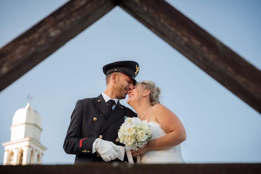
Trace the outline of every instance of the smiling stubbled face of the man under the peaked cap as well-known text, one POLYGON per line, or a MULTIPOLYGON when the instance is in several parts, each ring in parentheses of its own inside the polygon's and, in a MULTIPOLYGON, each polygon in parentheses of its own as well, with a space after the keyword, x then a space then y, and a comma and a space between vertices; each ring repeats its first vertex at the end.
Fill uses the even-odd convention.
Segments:
POLYGON ((133 89, 133 79, 129 76, 120 73, 117 76, 115 85, 114 85, 114 93, 118 99, 125 99, 129 90, 133 89))

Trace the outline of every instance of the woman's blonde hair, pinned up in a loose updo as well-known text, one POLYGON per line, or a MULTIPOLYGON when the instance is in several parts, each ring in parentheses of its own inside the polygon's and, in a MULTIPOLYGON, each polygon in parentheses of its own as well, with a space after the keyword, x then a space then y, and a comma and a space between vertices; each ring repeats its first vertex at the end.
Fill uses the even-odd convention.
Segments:
POLYGON ((159 96, 161 94, 161 89, 157 86, 155 86, 155 83, 153 81, 141 81, 136 84, 136 88, 138 91, 138 98, 136 102, 141 99, 142 97, 142 91, 150 90, 150 94, 148 97, 150 97, 150 105, 154 106, 155 104, 160 104, 159 96))

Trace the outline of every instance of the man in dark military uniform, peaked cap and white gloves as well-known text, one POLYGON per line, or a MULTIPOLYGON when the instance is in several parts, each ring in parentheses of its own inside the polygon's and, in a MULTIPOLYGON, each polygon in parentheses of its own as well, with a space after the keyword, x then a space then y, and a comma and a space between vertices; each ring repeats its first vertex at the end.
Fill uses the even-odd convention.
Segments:
POLYGON ((117 61, 105 65, 106 90, 95 98, 78 100, 64 140, 64 151, 75 154, 74 164, 101 161, 125 161, 124 144, 118 142, 118 129, 126 117, 136 117, 120 104, 136 85, 139 64, 117 61))

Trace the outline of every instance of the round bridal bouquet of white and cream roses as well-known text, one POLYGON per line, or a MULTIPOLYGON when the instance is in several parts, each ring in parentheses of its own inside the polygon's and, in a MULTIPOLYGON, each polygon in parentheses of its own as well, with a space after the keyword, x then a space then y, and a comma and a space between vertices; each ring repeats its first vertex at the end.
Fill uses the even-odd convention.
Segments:
POLYGON ((125 144, 126 149, 139 150, 149 142, 151 129, 147 120, 141 121, 137 117, 125 119, 118 131, 120 143, 125 144))

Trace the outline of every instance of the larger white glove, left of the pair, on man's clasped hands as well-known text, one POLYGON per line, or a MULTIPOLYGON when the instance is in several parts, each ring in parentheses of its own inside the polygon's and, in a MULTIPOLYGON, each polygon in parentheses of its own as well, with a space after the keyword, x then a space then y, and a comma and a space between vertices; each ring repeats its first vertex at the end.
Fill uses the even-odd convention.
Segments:
POLYGON ((92 145, 92 153, 97 151, 106 162, 115 160, 118 157, 116 149, 118 150, 116 144, 100 138, 97 138, 92 145))

